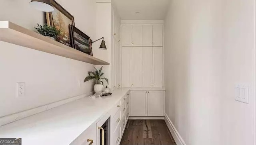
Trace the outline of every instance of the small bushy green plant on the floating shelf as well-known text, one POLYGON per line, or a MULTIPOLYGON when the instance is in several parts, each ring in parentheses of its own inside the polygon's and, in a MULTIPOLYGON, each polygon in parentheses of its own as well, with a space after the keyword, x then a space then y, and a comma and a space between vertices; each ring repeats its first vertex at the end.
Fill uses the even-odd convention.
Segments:
POLYGON ((35 27, 35 29, 39 34, 44 35, 53 40, 55 40, 56 37, 61 34, 61 30, 58 30, 55 27, 52 27, 47 24, 44 24, 43 26, 37 24, 37 28, 35 27))

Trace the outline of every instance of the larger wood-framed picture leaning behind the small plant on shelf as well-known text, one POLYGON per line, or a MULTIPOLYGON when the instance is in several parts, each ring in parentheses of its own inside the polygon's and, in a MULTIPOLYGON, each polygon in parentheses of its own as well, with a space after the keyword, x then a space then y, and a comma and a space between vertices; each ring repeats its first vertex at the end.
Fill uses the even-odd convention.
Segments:
POLYGON ((61 35, 56 38, 60 43, 72 46, 69 25, 75 25, 74 17, 55 0, 51 0, 53 12, 46 12, 46 23, 61 30, 61 35))

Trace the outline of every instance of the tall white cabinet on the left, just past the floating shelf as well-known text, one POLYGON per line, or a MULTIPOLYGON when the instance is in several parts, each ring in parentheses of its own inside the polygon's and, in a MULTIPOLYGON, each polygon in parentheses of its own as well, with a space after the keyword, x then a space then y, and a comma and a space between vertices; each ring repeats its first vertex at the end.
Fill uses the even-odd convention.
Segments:
POLYGON ((121 87, 121 20, 111 2, 99 1, 96 6, 97 38, 103 36, 107 45, 107 50, 99 53, 110 56, 110 67, 104 67, 104 76, 109 80, 109 88, 115 90, 121 87))

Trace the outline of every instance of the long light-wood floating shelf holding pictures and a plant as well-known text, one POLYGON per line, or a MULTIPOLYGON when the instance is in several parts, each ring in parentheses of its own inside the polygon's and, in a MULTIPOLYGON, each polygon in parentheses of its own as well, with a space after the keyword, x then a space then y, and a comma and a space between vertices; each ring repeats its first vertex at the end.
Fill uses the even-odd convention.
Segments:
POLYGON ((0 21, 0 41, 44 51, 47 53, 91 63, 94 65, 109 65, 108 62, 82 53, 72 47, 44 37, 34 31, 13 24, 9 21, 0 21))

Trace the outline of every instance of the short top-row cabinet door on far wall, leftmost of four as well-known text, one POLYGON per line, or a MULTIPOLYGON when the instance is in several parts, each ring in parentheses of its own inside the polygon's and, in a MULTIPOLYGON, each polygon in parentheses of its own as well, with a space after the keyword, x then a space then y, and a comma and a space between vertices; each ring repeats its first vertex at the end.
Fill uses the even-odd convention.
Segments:
POLYGON ((122 26, 122 46, 132 46, 132 25, 122 26))

